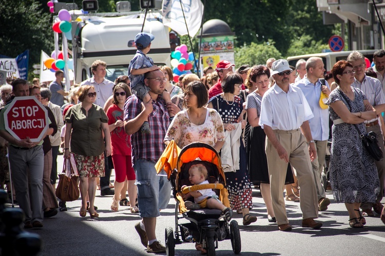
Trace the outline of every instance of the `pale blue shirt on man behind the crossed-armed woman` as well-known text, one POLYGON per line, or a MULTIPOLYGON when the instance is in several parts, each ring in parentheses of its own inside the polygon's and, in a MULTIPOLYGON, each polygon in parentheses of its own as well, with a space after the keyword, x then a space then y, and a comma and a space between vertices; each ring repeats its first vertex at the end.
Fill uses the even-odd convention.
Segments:
MULTIPOLYGON (((365 96, 367 96, 369 103, 372 106, 385 104, 385 93, 383 92, 381 82, 377 78, 373 78, 370 76, 365 75, 362 83, 354 78, 354 82, 352 83, 352 86, 355 88, 360 89, 365 96)), ((377 118, 365 121, 365 123, 373 122, 377 118)))

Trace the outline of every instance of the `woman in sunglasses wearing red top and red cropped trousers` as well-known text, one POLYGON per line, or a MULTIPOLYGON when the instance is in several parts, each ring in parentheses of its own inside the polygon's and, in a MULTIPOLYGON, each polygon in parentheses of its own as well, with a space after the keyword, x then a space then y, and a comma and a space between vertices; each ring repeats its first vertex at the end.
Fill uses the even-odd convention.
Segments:
MULTIPOLYGON (((123 107, 126 99, 131 96, 130 89, 126 83, 118 83, 113 88, 112 105, 107 110, 108 127, 111 132, 111 155, 113 166, 115 167, 115 194, 112 198, 111 210, 118 211, 119 196, 122 190, 124 198, 127 187, 124 187, 125 181, 128 180, 128 196, 131 202, 131 212, 137 213, 139 209, 135 206, 137 198, 137 186, 135 185, 135 171, 131 163, 131 143, 130 136, 124 131, 123 107)), ((123 196, 123 195, 122 195, 123 196)))

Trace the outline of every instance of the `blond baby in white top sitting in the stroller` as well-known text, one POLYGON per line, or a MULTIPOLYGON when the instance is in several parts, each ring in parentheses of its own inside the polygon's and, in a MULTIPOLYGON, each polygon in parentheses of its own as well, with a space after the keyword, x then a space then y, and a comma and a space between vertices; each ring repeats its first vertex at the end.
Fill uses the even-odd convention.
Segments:
MULTIPOLYGON (((207 169, 203 164, 195 164, 192 165, 188 169, 189 181, 193 185, 203 185, 208 184, 207 181, 207 169)), ((186 187, 183 185, 181 189, 186 187)), ((222 210, 223 214, 226 216, 227 221, 230 221, 233 216, 233 211, 224 206, 222 202, 219 200, 216 193, 213 189, 201 189, 196 191, 190 191, 187 194, 183 195, 184 199, 189 197, 194 197, 194 202, 186 201, 185 206, 187 209, 200 209, 200 208, 209 208, 209 209, 219 209, 222 210)))

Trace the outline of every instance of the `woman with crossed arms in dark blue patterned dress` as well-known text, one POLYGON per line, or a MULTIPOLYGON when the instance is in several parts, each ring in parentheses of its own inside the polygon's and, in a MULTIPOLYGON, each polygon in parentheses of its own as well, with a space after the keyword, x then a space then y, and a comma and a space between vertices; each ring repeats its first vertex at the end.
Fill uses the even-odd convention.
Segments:
POLYGON ((364 121, 372 120, 377 115, 363 92, 351 86, 355 81, 351 63, 338 61, 333 66, 332 74, 338 87, 326 101, 333 120, 330 182, 334 200, 345 203, 349 225, 360 228, 366 224, 360 204, 375 203, 380 190, 374 159, 360 140, 360 134, 366 134, 364 121))

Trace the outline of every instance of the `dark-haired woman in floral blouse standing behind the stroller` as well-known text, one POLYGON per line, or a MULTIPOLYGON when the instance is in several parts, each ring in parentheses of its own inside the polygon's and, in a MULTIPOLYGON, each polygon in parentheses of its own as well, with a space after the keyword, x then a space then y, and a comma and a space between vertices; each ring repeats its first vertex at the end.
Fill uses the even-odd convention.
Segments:
POLYGON ((180 148, 199 141, 220 151, 224 143, 224 129, 217 111, 205 107, 207 89, 201 81, 187 85, 184 92, 186 110, 179 112, 168 127, 165 143, 174 139, 180 148))

